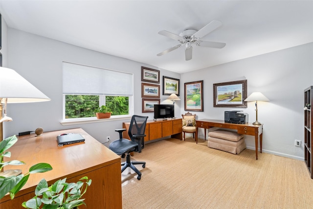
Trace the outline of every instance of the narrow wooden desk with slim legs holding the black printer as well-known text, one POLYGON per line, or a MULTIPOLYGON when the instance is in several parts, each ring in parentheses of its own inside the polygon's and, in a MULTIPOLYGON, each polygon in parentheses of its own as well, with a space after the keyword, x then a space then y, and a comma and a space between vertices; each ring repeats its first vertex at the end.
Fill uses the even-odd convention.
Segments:
POLYGON ((252 123, 234 124, 225 123, 224 120, 200 119, 196 120, 196 142, 198 143, 198 128, 204 128, 204 138, 206 138, 206 129, 220 127, 237 130, 238 134, 254 136, 255 139, 255 158, 258 160, 258 139, 260 137, 260 151, 262 153, 262 131, 263 125, 254 125, 252 123))

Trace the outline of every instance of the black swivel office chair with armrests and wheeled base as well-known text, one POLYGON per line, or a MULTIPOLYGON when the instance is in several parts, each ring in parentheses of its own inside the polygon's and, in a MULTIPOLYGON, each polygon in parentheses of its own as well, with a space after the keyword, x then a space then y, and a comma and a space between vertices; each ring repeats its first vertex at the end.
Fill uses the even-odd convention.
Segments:
POLYGON ((144 140, 147 116, 132 116, 131 123, 128 130, 128 135, 131 138, 123 139, 122 133, 125 131, 125 128, 116 129, 115 131, 119 133, 119 139, 113 141, 110 144, 110 149, 115 152, 117 155, 121 155, 122 158, 126 156, 126 162, 122 163, 122 173, 127 168, 130 167, 138 174, 137 179, 141 179, 141 172, 134 166, 136 164, 142 164, 144 168, 146 166, 146 162, 132 162, 131 161, 131 152, 141 152, 141 149, 144 148, 144 140))

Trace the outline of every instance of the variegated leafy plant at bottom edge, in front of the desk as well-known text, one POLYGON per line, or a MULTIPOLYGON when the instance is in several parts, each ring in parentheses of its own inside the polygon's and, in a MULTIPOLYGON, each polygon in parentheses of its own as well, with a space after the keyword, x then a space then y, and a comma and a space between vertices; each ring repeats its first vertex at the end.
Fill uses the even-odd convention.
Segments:
POLYGON ((67 183, 66 178, 56 181, 48 186, 45 179, 42 179, 35 189, 35 197, 23 202, 22 206, 27 209, 73 209, 80 205, 85 205, 82 196, 86 193, 91 184, 87 176, 77 183, 67 183), (84 187, 85 185, 85 187, 84 187), (42 196, 42 198, 40 198, 42 196))

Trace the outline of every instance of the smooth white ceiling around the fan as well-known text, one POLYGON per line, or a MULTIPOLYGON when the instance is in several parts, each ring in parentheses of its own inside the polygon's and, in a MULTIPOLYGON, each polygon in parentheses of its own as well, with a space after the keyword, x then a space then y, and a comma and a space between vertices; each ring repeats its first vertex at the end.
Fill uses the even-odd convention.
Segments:
POLYGON ((179 73, 313 42, 313 1, 306 0, 0 0, 8 27, 179 73), (184 47, 159 35, 223 25, 201 40, 222 49, 184 47))

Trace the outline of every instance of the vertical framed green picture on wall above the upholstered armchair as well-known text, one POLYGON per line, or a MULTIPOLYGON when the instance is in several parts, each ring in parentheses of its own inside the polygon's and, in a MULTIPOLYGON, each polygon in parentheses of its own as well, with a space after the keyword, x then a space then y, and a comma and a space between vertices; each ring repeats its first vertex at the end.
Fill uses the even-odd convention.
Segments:
POLYGON ((203 80, 185 83, 185 111, 203 112, 203 80))

